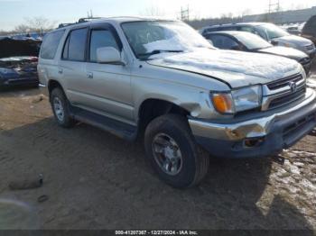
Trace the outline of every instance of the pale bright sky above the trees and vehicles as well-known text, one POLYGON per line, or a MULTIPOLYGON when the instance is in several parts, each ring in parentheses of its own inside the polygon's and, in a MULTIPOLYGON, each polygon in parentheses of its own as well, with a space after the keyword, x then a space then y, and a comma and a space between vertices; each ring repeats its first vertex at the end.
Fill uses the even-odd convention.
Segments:
MULTIPOLYGON (((271 0, 277 2, 277 0, 271 0)), ((189 5, 190 17, 212 18, 222 14, 259 14, 268 9, 269 0, 0 0, 0 30, 14 30, 25 18, 43 16, 56 23, 72 23, 86 17, 116 15, 163 15, 179 17, 181 6, 189 5)), ((316 5, 316 0, 280 0, 283 9, 316 5)))

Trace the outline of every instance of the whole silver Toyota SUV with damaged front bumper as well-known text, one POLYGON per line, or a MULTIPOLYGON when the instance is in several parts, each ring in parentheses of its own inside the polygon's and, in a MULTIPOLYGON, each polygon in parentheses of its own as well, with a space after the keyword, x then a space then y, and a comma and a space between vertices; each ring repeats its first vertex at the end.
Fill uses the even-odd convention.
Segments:
POLYGON ((107 18, 46 35, 39 60, 57 123, 144 138, 158 176, 200 183, 210 156, 259 158, 316 125, 302 66, 277 56, 214 49, 185 23, 107 18))

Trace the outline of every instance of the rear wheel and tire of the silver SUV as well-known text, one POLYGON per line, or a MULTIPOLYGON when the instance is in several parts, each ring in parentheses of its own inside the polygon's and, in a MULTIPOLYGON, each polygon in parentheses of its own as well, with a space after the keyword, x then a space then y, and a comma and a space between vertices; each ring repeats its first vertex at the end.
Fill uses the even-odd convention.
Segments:
POLYGON ((75 125, 75 120, 70 114, 68 99, 60 87, 56 87, 51 91, 50 101, 51 109, 57 123, 63 128, 73 127, 75 125), (59 109, 57 106, 59 106, 59 109))

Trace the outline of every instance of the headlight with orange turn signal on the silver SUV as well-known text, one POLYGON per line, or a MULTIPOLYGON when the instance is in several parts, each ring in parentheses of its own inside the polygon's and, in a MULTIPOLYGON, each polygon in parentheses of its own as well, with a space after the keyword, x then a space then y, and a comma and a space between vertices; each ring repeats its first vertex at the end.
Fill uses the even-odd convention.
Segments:
POLYGON ((248 86, 231 93, 214 93, 211 100, 219 113, 238 113, 259 107, 262 102, 262 86, 248 86))

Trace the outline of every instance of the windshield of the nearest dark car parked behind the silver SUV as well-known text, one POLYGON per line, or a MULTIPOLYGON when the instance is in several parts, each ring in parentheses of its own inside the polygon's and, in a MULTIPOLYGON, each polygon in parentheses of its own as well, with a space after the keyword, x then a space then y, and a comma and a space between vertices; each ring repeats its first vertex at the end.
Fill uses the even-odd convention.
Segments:
POLYGON ((238 41, 243 43, 248 50, 262 50, 272 47, 272 44, 263 40, 259 36, 256 36, 256 34, 252 34, 250 32, 237 33, 234 36, 237 38, 238 41))

